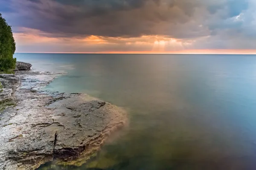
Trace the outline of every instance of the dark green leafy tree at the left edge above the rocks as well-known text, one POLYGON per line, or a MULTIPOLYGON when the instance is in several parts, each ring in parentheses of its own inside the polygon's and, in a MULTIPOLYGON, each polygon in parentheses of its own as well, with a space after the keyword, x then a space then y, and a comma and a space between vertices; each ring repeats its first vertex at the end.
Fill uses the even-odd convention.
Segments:
POLYGON ((0 71, 15 69, 16 58, 13 58, 15 49, 12 28, 0 13, 0 71))

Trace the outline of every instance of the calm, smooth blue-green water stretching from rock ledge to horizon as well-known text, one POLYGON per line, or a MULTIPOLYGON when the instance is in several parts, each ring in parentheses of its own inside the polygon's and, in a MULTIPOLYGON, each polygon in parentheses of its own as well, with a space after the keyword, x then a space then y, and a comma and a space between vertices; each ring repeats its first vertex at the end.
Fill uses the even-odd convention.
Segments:
POLYGON ((256 56, 15 54, 67 71, 45 89, 81 92, 129 111, 130 125, 82 167, 255 170, 256 56))

